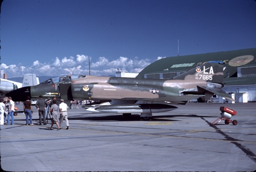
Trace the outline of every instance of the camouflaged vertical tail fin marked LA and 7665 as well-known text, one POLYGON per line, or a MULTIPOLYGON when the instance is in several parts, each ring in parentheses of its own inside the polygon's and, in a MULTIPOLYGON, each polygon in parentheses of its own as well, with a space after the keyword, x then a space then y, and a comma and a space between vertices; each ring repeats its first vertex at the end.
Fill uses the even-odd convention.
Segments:
POLYGON ((224 63, 222 61, 206 62, 188 72, 184 72, 181 75, 173 77, 173 80, 197 80, 199 82, 206 81, 207 83, 222 84, 223 64, 224 63))

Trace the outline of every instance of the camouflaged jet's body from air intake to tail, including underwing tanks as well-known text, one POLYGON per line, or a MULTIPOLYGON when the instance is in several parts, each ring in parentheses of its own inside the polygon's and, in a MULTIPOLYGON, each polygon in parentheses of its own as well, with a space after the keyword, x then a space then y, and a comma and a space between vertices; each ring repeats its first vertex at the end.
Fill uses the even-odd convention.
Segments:
POLYGON ((194 98, 208 100, 213 94, 235 101, 221 90, 223 62, 211 61, 171 78, 120 78, 86 76, 72 83, 59 84, 64 100, 97 100, 102 104, 84 106, 91 112, 141 113, 151 118, 152 113, 167 112, 194 98))

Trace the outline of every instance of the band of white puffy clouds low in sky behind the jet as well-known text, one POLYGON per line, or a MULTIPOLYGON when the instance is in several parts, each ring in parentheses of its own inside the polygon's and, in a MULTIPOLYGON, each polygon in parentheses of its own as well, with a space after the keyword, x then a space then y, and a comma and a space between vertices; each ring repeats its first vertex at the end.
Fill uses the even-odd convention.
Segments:
MULTIPOLYGON (((128 58, 118 57, 109 60, 106 57, 89 57, 78 54, 74 57, 56 57, 51 62, 42 62, 42 59, 33 62, 32 66, 0 65, 1 73, 4 72, 11 77, 22 77, 22 74, 36 74, 37 76, 58 76, 58 75, 89 75, 89 58, 91 58, 91 75, 115 75, 117 68, 125 68, 126 72, 141 72, 150 65, 149 59, 139 59, 139 57, 128 58)), ((162 58, 162 57, 161 57, 162 58)), ((158 57, 160 59, 160 57, 158 57)))

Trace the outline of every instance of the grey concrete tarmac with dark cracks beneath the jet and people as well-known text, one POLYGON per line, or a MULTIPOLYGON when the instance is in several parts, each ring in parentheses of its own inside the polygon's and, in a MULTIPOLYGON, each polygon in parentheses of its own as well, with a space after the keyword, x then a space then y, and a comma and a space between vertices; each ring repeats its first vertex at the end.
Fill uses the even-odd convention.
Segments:
MULTIPOLYGON (((18 105, 23 109, 22 105, 18 105)), ((70 129, 25 125, 1 126, 1 168, 5 171, 254 171, 256 170, 256 103, 188 103, 179 109, 139 115, 68 110, 70 129), (237 111, 238 124, 220 118, 220 106, 237 111)), ((34 107, 35 108, 35 107, 34 107)))

